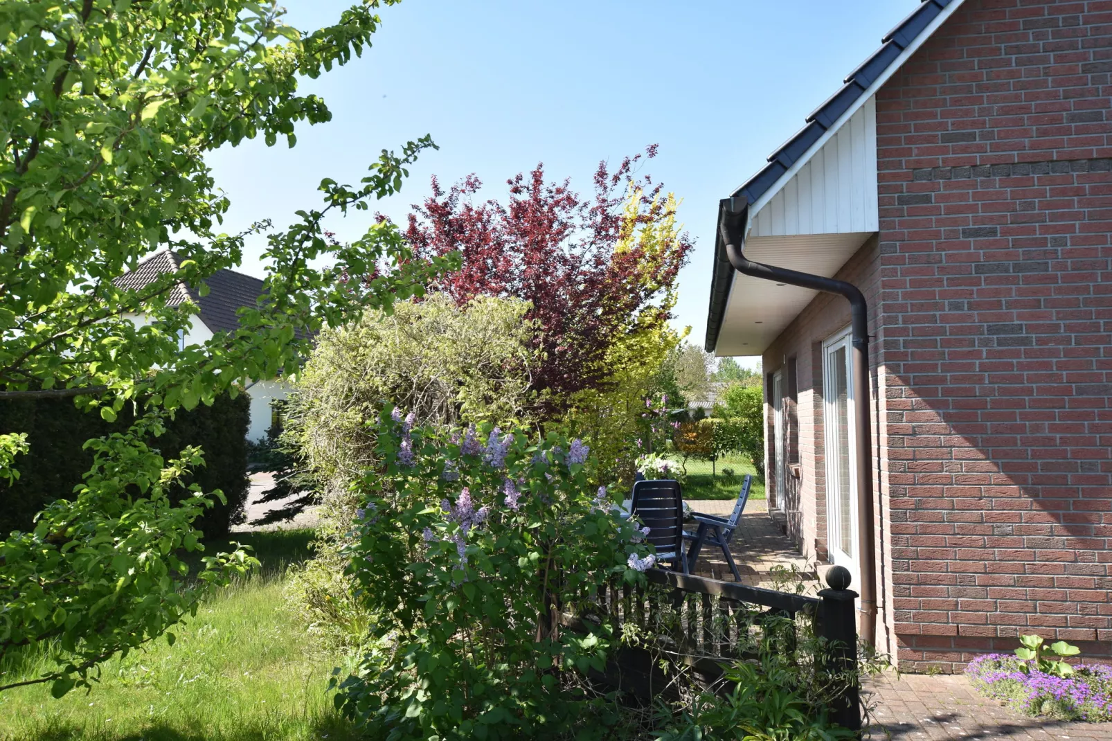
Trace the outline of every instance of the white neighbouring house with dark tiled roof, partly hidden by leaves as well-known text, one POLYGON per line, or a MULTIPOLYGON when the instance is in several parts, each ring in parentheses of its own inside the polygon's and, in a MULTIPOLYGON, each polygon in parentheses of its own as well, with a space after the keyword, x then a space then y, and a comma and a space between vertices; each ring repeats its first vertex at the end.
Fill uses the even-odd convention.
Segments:
MULTIPOLYGON (((116 285, 121 288, 141 288, 159 275, 177 271, 179 259, 169 249, 155 253, 137 265, 135 270, 117 278, 116 285)), ((218 332, 236 329, 239 326, 236 312, 244 306, 255 306, 262 294, 262 280, 235 270, 218 270, 205 283, 209 288, 208 295, 201 296, 193 287, 178 284, 167 302, 170 306, 178 306, 189 300, 200 307, 200 315, 193 317, 188 332, 181 337, 182 347, 202 344, 218 332)), ((147 317, 141 314, 128 315, 127 318, 139 326, 148 323, 147 317)), ((272 423, 270 402, 286 398, 286 385, 277 378, 264 378, 246 379, 244 387, 251 399, 247 438, 261 439, 266 437, 272 423)))

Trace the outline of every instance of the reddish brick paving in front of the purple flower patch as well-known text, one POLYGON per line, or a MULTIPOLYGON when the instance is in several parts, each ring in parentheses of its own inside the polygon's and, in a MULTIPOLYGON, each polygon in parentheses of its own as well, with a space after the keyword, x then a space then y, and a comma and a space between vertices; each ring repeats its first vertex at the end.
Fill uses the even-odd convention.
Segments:
POLYGON ((974 690, 962 675, 895 674, 867 680, 875 723, 866 738, 930 739, 1112 739, 1112 723, 1076 723, 1027 718, 974 690))

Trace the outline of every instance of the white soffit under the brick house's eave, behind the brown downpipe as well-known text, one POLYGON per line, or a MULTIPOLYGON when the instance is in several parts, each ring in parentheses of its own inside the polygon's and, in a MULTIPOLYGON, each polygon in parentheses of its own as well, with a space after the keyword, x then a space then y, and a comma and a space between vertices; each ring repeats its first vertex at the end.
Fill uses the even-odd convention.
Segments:
MULTIPOLYGON (((830 278, 874 231, 783 237, 751 235, 745 241, 745 256, 757 263, 830 278)), ((764 353, 816 295, 817 292, 810 288, 780 286, 735 271, 715 355, 764 353)))

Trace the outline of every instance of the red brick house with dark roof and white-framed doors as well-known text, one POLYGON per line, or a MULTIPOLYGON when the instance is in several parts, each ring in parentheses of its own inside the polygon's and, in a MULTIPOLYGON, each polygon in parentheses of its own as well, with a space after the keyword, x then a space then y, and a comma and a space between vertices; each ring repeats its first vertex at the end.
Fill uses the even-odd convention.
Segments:
POLYGON ((763 355, 770 504, 855 584, 874 549, 905 671, 1110 653, 1110 73, 1112 1, 925 0, 719 207, 745 259, 867 303, 862 393, 850 304, 721 229, 706 349, 763 355))

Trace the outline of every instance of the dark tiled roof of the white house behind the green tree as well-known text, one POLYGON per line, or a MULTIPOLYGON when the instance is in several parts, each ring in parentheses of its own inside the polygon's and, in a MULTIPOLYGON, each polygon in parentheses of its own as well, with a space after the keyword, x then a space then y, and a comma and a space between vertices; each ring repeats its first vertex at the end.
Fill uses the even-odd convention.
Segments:
MULTIPOLYGON (((129 273, 116 278, 120 288, 142 288, 159 275, 173 273, 181 264, 181 256, 169 250, 156 253, 129 273)), ((207 296, 201 296, 193 287, 183 283, 173 287, 167 302, 180 306, 187 299, 201 309, 201 322, 212 332, 230 332, 239 327, 236 312, 241 306, 255 306, 262 295, 262 280, 235 270, 217 270, 203 281, 209 287, 207 296)))

